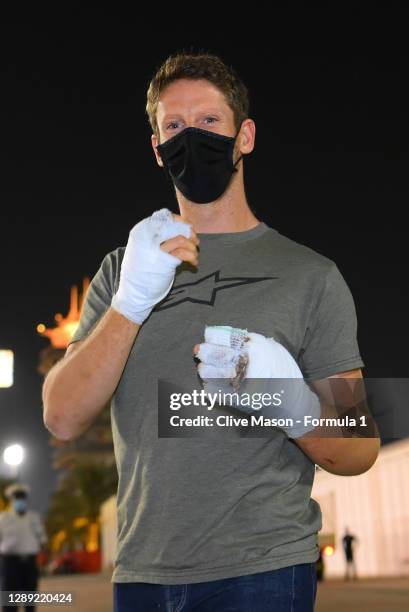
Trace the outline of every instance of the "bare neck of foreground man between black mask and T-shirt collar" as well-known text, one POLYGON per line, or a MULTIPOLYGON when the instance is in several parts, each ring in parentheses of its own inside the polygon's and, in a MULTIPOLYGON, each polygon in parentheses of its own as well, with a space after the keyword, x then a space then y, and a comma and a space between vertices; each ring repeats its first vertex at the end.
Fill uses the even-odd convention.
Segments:
POLYGON ((180 214, 197 233, 243 232, 260 223, 250 210, 241 172, 238 174, 226 193, 208 204, 190 202, 176 189, 180 214))

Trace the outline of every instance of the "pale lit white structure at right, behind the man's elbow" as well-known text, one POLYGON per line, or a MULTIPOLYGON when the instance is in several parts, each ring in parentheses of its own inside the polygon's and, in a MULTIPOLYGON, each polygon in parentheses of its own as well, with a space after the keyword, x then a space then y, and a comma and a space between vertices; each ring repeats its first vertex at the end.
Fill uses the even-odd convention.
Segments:
POLYGON ((359 540, 358 577, 409 576, 409 439, 383 446, 359 476, 317 470, 311 497, 321 507, 322 542, 335 541, 334 554, 324 556, 326 577, 345 574, 345 527, 359 540))

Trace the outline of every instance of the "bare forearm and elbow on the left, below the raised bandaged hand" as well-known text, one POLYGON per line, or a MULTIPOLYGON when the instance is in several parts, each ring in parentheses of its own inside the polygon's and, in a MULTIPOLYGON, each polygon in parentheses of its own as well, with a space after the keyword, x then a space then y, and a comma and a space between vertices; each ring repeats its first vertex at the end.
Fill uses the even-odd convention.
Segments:
POLYGON ((108 308, 92 332, 71 344, 50 370, 43 386, 43 416, 56 438, 77 438, 102 411, 118 385, 139 329, 108 308))

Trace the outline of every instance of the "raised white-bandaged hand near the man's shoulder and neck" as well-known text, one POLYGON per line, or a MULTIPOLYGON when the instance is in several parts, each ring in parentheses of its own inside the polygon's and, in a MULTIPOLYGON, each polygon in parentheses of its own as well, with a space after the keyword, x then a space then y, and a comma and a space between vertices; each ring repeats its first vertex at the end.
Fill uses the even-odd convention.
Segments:
MULTIPOLYGON (((111 306, 134 323, 143 323, 169 293, 182 259, 161 249, 176 236, 190 238, 191 227, 162 208, 137 223, 129 233, 119 287, 111 306)), ((175 250, 178 252, 178 250, 175 250)))

